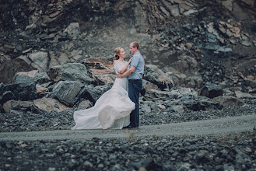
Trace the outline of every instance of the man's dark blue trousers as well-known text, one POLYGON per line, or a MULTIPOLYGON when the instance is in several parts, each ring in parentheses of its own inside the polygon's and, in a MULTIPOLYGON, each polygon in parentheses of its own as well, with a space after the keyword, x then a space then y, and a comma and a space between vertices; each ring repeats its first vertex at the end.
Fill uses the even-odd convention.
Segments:
POLYGON ((142 89, 141 79, 129 79, 128 96, 135 103, 135 110, 130 114, 130 125, 139 127, 139 92, 142 89))

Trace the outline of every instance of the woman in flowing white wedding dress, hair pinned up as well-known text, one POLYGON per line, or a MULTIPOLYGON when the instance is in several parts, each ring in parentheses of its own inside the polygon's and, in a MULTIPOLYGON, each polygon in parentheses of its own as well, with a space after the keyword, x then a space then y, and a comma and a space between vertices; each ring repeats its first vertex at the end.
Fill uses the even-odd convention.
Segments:
MULTIPOLYGON (((124 73, 131 59, 124 61, 125 52, 122 47, 114 50, 114 71, 124 73)), ((130 113, 135 109, 135 103, 128 97, 128 79, 115 79, 113 87, 104 92, 95 105, 86 110, 74 113, 76 129, 121 129, 130 124, 130 113)))

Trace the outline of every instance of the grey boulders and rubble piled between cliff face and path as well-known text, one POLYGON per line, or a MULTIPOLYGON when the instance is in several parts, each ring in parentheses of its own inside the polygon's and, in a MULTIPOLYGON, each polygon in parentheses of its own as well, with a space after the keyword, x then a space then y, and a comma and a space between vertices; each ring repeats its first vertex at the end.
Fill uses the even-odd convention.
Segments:
MULTIPOLYGON (((113 61, 93 60, 54 66, 47 73, 18 72, 12 84, 1 84, 1 131, 70 129, 73 112, 93 106, 116 78, 113 61)), ((254 93, 215 84, 201 89, 175 86, 170 73, 156 65, 146 65, 139 99, 140 124, 253 114, 254 99, 254 93)))

